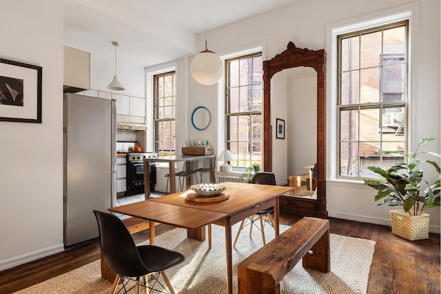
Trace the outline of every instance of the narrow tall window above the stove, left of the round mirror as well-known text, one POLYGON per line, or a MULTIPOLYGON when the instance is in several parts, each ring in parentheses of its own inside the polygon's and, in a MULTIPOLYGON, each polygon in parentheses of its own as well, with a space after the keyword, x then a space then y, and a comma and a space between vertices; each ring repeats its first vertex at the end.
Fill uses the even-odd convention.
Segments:
POLYGON ((154 150, 159 156, 176 154, 176 74, 154 76, 154 150))

